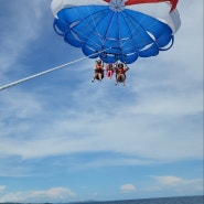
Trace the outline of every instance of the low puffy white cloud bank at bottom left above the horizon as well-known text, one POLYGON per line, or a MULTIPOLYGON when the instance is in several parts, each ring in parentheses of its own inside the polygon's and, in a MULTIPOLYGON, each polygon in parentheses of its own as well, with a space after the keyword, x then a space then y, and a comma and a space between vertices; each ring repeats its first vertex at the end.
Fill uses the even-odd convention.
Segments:
POLYGON ((54 187, 45 191, 11 192, 1 196, 0 202, 66 202, 76 195, 65 187, 54 187))

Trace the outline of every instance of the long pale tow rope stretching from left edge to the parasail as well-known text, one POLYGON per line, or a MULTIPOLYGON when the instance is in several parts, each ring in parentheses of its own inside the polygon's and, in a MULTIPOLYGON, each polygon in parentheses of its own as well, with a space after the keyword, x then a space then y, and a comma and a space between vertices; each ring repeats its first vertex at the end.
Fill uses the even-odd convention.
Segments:
MULTIPOLYGON (((104 51, 100 51, 100 52, 98 52, 98 53, 101 53, 101 52, 104 52, 104 51)), ((75 60, 75 61, 72 61, 72 62, 65 63, 65 64, 63 64, 63 65, 55 66, 55 67, 50 68, 50 69, 47 69, 47 71, 43 71, 43 72, 41 72, 41 73, 37 73, 37 74, 34 74, 34 75, 31 75, 31 76, 24 77, 24 78, 22 78, 22 79, 15 80, 15 82, 13 82, 13 83, 6 84, 6 85, 3 85, 3 86, 0 86, 0 92, 1 92, 1 90, 3 90, 3 89, 7 89, 7 88, 9 88, 9 87, 15 86, 15 85, 18 85, 18 84, 24 83, 24 82, 26 82, 26 80, 30 80, 30 79, 36 78, 36 77, 39 77, 39 76, 42 76, 42 75, 49 74, 49 73, 54 72, 54 71, 57 71, 57 69, 63 68, 63 67, 65 67, 65 66, 68 66, 68 65, 75 64, 75 63, 77 63, 77 62, 79 62, 79 61, 83 61, 83 60, 89 58, 90 56, 93 56, 93 54, 92 54, 92 55, 89 55, 89 56, 84 56, 84 57, 82 57, 82 58, 78 58, 78 60, 75 60)))

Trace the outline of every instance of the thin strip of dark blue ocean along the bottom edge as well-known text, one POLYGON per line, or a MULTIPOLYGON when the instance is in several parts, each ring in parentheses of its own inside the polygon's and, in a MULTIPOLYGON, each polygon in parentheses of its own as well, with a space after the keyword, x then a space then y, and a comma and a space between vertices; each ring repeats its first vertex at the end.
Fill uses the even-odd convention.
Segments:
POLYGON ((182 196, 104 202, 75 202, 73 204, 204 204, 204 196, 182 196))

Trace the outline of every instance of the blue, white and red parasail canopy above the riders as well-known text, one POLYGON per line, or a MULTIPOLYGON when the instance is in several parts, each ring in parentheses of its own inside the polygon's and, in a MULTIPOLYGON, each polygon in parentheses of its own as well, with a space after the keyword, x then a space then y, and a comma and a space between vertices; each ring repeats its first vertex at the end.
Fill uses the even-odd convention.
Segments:
POLYGON ((131 64, 173 45, 181 25, 175 1, 53 0, 51 8, 54 29, 66 43, 90 58, 131 64))

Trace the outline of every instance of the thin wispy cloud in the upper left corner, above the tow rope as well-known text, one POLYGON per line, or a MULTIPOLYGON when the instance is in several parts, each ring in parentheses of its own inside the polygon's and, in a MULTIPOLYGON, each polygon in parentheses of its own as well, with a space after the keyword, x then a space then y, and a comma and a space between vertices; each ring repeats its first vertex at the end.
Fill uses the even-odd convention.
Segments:
POLYGON ((33 43, 41 35, 44 6, 49 6, 49 3, 43 4, 42 1, 13 1, 12 3, 8 2, 8 6, 4 7, 7 10, 2 12, 2 21, 0 21, 0 63, 3 65, 0 74, 12 69, 13 66, 15 72, 23 68, 23 65, 20 65, 18 61, 26 56, 26 52, 31 50, 29 47, 31 46, 30 43, 33 43))

